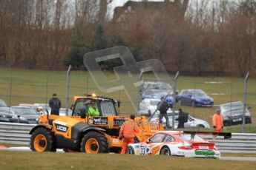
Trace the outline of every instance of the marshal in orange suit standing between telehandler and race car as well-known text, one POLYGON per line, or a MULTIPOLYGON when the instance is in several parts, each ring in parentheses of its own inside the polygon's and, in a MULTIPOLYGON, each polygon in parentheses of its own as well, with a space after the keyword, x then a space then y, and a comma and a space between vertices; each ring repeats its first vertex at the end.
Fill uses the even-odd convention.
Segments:
POLYGON ((131 115, 130 118, 125 121, 125 123, 123 123, 120 129, 119 137, 123 137, 121 154, 125 154, 129 143, 134 143, 135 133, 140 132, 137 123, 134 121, 134 118, 135 116, 131 115))

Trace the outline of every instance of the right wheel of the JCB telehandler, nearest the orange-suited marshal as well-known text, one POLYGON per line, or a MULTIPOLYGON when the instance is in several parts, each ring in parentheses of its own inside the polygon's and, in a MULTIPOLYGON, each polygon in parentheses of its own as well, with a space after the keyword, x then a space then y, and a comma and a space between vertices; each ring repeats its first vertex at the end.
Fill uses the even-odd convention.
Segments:
POLYGON ((91 131, 82 137, 81 152, 108 153, 108 139, 101 132, 91 131))

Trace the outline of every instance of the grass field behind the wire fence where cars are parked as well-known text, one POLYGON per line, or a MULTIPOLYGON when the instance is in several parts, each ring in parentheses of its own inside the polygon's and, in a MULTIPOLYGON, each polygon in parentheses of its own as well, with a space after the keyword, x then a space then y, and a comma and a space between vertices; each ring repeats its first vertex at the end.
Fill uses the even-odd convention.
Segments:
MULTIPOLYGON (((22 103, 47 104, 49 103, 50 98, 52 98, 53 93, 56 93, 58 98, 62 101, 62 108, 65 108, 65 102, 67 99, 67 72, 3 68, 1 71, 0 99, 5 101, 7 106, 19 106, 22 103)), ((116 78, 116 75, 112 72, 104 72, 104 75, 108 79, 116 78)), ((138 77, 135 76, 134 78, 138 77)), ((127 81, 125 81, 126 79, 122 78, 122 80, 119 80, 119 85, 125 84, 125 86, 127 86, 131 79, 127 79, 127 81)), ((155 82, 156 78, 154 78, 154 75, 148 74, 143 77, 143 81, 144 83, 155 82)), ((104 81, 101 82, 101 84, 103 83, 104 81)), ((248 112, 250 112, 252 123, 246 123, 245 132, 256 132, 255 83, 255 79, 253 78, 248 81, 248 99, 246 106, 251 107, 248 112)), ((170 85, 173 86, 173 84, 170 85)), ((131 86, 134 85, 131 84, 131 86)), ((121 101, 121 106, 117 110, 120 115, 128 117, 131 113, 139 113, 140 101, 142 100, 142 98, 138 98, 138 96, 141 95, 140 86, 128 89, 128 91, 120 88, 115 92, 102 92, 98 89, 98 86, 96 86, 93 78, 88 74, 88 72, 71 71, 68 107, 74 103, 73 96, 96 93, 96 95, 108 96, 121 101), (130 97, 128 97, 128 95, 130 95, 130 97), (132 102, 136 103, 135 107, 132 102)), ((210 127, 212 126, 211 118, 214 115, 215 109, 219 108, 224 103, 231 103, 234 101, 243 102, 243 78, 180 76, 177 81, 177 91, 181 92, 182 89, 202 89, 214 100, 213 106, 191 106, 191 104, 188 103, 180 105, 178 102, 175 106, 176 109, 181 108, 183 109, 183 112, 188 112, 194 120, 206 120, 210 127)), ((228 115, 227 117, 231 117, 231 115, 228 115)), ((229 122, 234 125, 224 126, 224 131, 241 132, 242 126, 240 124, 240 117, 237 117, 237 119, 229 118, 229 122)), ((200 129, 200 126, 195 127, 197 130, 203 130, 200 129)))

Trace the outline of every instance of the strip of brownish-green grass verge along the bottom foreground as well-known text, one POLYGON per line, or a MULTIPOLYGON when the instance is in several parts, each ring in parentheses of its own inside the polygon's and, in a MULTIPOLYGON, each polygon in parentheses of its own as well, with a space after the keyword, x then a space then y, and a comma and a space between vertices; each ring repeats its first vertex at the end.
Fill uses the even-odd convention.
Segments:
POLYGON ((0 152, 1 169, 255 169, 256 162, 122 154, 0 152))

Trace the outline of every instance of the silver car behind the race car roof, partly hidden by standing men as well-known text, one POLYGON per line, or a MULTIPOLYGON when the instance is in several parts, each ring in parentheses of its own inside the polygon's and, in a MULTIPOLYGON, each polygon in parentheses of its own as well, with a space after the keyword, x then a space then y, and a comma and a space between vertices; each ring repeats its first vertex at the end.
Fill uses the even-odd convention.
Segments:
MULTIPOLYGON (((151 118, 150 122, 151 123, 159 123, 159 114, 160 112, 156 112, 156 114, 151 118)), ((177 129, 178 123, 179 123, 179 112, 175 111, 174 114, 173 112, 168 111, 167 112, 168 119, 169 119, 169 126, 172 126, 172 116, 174 115, 175 121, 174 121, 174 129, 177 129)), ((166 125, 166 120, 163 118, 163 126, 166 125)), ((206 120, 201 120, 192 117, 191 115, 188 114, 188 122, 184 123, 185 128, 210 128, 209 123, 206 120)))

